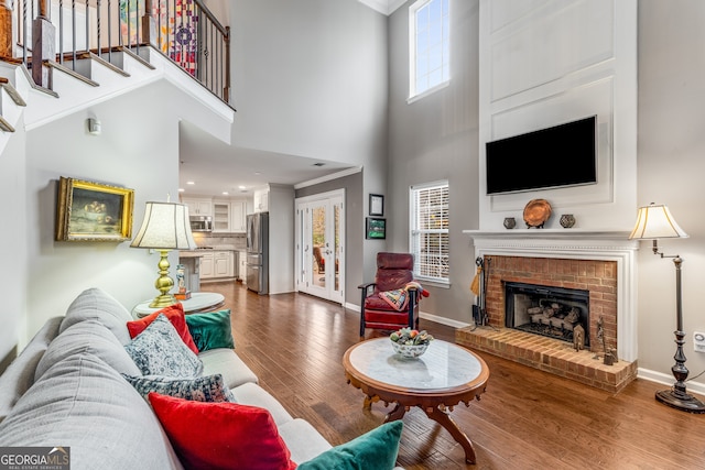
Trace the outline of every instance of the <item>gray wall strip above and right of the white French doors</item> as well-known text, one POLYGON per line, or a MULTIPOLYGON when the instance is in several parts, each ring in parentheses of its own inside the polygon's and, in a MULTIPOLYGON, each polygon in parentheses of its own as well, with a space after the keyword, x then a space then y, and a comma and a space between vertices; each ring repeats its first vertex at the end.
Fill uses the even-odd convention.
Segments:
POLYGON ((296 198, 345 189, 345 303, 359 304, 359 289, 365 281, 362 276, 362 240, 365 240, 365 198, 362 193, 362 172, 296 189, 296 198))

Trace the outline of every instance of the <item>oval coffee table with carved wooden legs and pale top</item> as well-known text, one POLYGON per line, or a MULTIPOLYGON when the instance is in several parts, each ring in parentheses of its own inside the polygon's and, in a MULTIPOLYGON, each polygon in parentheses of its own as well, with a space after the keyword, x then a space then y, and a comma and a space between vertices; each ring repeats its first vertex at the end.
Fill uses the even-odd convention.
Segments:
POLYGON ((475 463, 475 449, 451 418, 458 403, 479 400, 489 380, 489 369, 477 354, 447 341, 433 340, 420 358, 408 359, 392 349, 389 338, 358 342, 343 357, 348 383, 367 395, 364 407, 378 401, 395 403, 384 423, 401 419, 412 406, 446 428, 463 446, 465 460, 475 463))

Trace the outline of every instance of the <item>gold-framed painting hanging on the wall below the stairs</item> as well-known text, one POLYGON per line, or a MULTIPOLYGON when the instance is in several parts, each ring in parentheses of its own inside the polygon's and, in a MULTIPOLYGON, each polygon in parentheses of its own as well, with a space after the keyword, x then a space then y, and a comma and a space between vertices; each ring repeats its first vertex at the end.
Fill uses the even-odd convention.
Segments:
POLYGON ((134 189, 62 176, 55 240, 130 240, 133 205, 134 189))

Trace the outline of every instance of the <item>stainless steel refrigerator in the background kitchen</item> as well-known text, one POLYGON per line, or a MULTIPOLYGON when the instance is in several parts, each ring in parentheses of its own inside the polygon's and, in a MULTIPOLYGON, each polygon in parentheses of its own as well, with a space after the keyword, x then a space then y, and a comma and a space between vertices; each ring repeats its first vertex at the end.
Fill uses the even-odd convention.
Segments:
POLYGON ((269 294, 269 212, 247 216, 247 288, 269 294))

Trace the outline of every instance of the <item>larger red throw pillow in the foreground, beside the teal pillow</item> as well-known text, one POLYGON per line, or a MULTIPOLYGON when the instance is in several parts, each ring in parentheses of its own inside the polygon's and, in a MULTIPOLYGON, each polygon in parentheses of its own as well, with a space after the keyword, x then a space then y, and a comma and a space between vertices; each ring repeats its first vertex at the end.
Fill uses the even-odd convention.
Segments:
POLYGON ((264 408, 150 393, 152 408, 187 469, 293 470, 296 463, 264 408))

